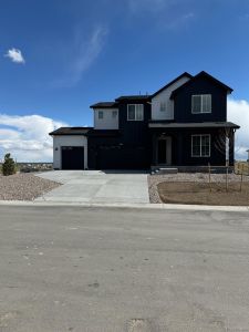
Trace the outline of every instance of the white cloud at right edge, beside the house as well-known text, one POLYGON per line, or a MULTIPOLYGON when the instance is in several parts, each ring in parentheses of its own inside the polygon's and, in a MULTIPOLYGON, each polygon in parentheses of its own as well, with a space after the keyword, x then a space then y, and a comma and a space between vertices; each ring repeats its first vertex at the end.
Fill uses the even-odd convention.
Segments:
POLYGON ((228 100, 228 121, 240 126, 236 132, 235 151, 237 159, 247 159, 249 149, 249 102, 245 100, 228 100))

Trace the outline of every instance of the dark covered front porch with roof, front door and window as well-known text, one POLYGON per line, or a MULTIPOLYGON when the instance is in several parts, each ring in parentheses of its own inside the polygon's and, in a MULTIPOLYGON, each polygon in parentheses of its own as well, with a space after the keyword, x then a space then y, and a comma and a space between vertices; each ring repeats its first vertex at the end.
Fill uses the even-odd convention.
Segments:
POLYGON ((153 167, 234 165, 235 132, 229 123, 149 123, 153 167))

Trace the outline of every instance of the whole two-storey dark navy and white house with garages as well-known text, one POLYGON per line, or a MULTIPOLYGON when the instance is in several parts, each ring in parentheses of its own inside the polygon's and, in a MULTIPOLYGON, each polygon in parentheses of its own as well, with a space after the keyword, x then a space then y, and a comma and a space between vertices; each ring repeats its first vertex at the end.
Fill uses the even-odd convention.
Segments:
POLYGON ((231 92, 206 72, 184 73, 153 95, 94 104, 94 127, 61 127, 50 133, 54 168, 221 166, 226 158, 234 165, 239 126, 227 122, 231 92))

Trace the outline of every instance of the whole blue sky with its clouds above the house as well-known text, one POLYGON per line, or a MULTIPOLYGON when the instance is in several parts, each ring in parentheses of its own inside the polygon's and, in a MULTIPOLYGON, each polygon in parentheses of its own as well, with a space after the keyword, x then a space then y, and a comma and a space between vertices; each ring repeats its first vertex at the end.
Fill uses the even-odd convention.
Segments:
POLYGON ((185 71, 234 87, 231 120, 249 127, 248 37, 248 0, 0 0, 0 154, 50 160, 48 131, 185 71))

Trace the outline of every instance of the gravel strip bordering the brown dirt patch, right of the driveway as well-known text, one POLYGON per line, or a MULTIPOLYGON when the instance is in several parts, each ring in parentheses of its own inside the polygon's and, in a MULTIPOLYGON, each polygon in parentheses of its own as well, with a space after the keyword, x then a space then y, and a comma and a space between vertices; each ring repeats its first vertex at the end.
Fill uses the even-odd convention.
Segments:
MULTIPOLYGON (((228 181, 239 181, 240 175, 229 174, 228 181)), ((243 176, 245 181, 249 181, 249 176, 243 176)), ((163 181, 195 181, 195 183, 208 183, 207 173, 178 173, 178 174, 167 174, 167 175, 148 175, 148 194, 151 203, 163 203, 158 195, 157 185, 163 181)), ((225 183, 225 174, 211 174, 212 183, 225 183)))

